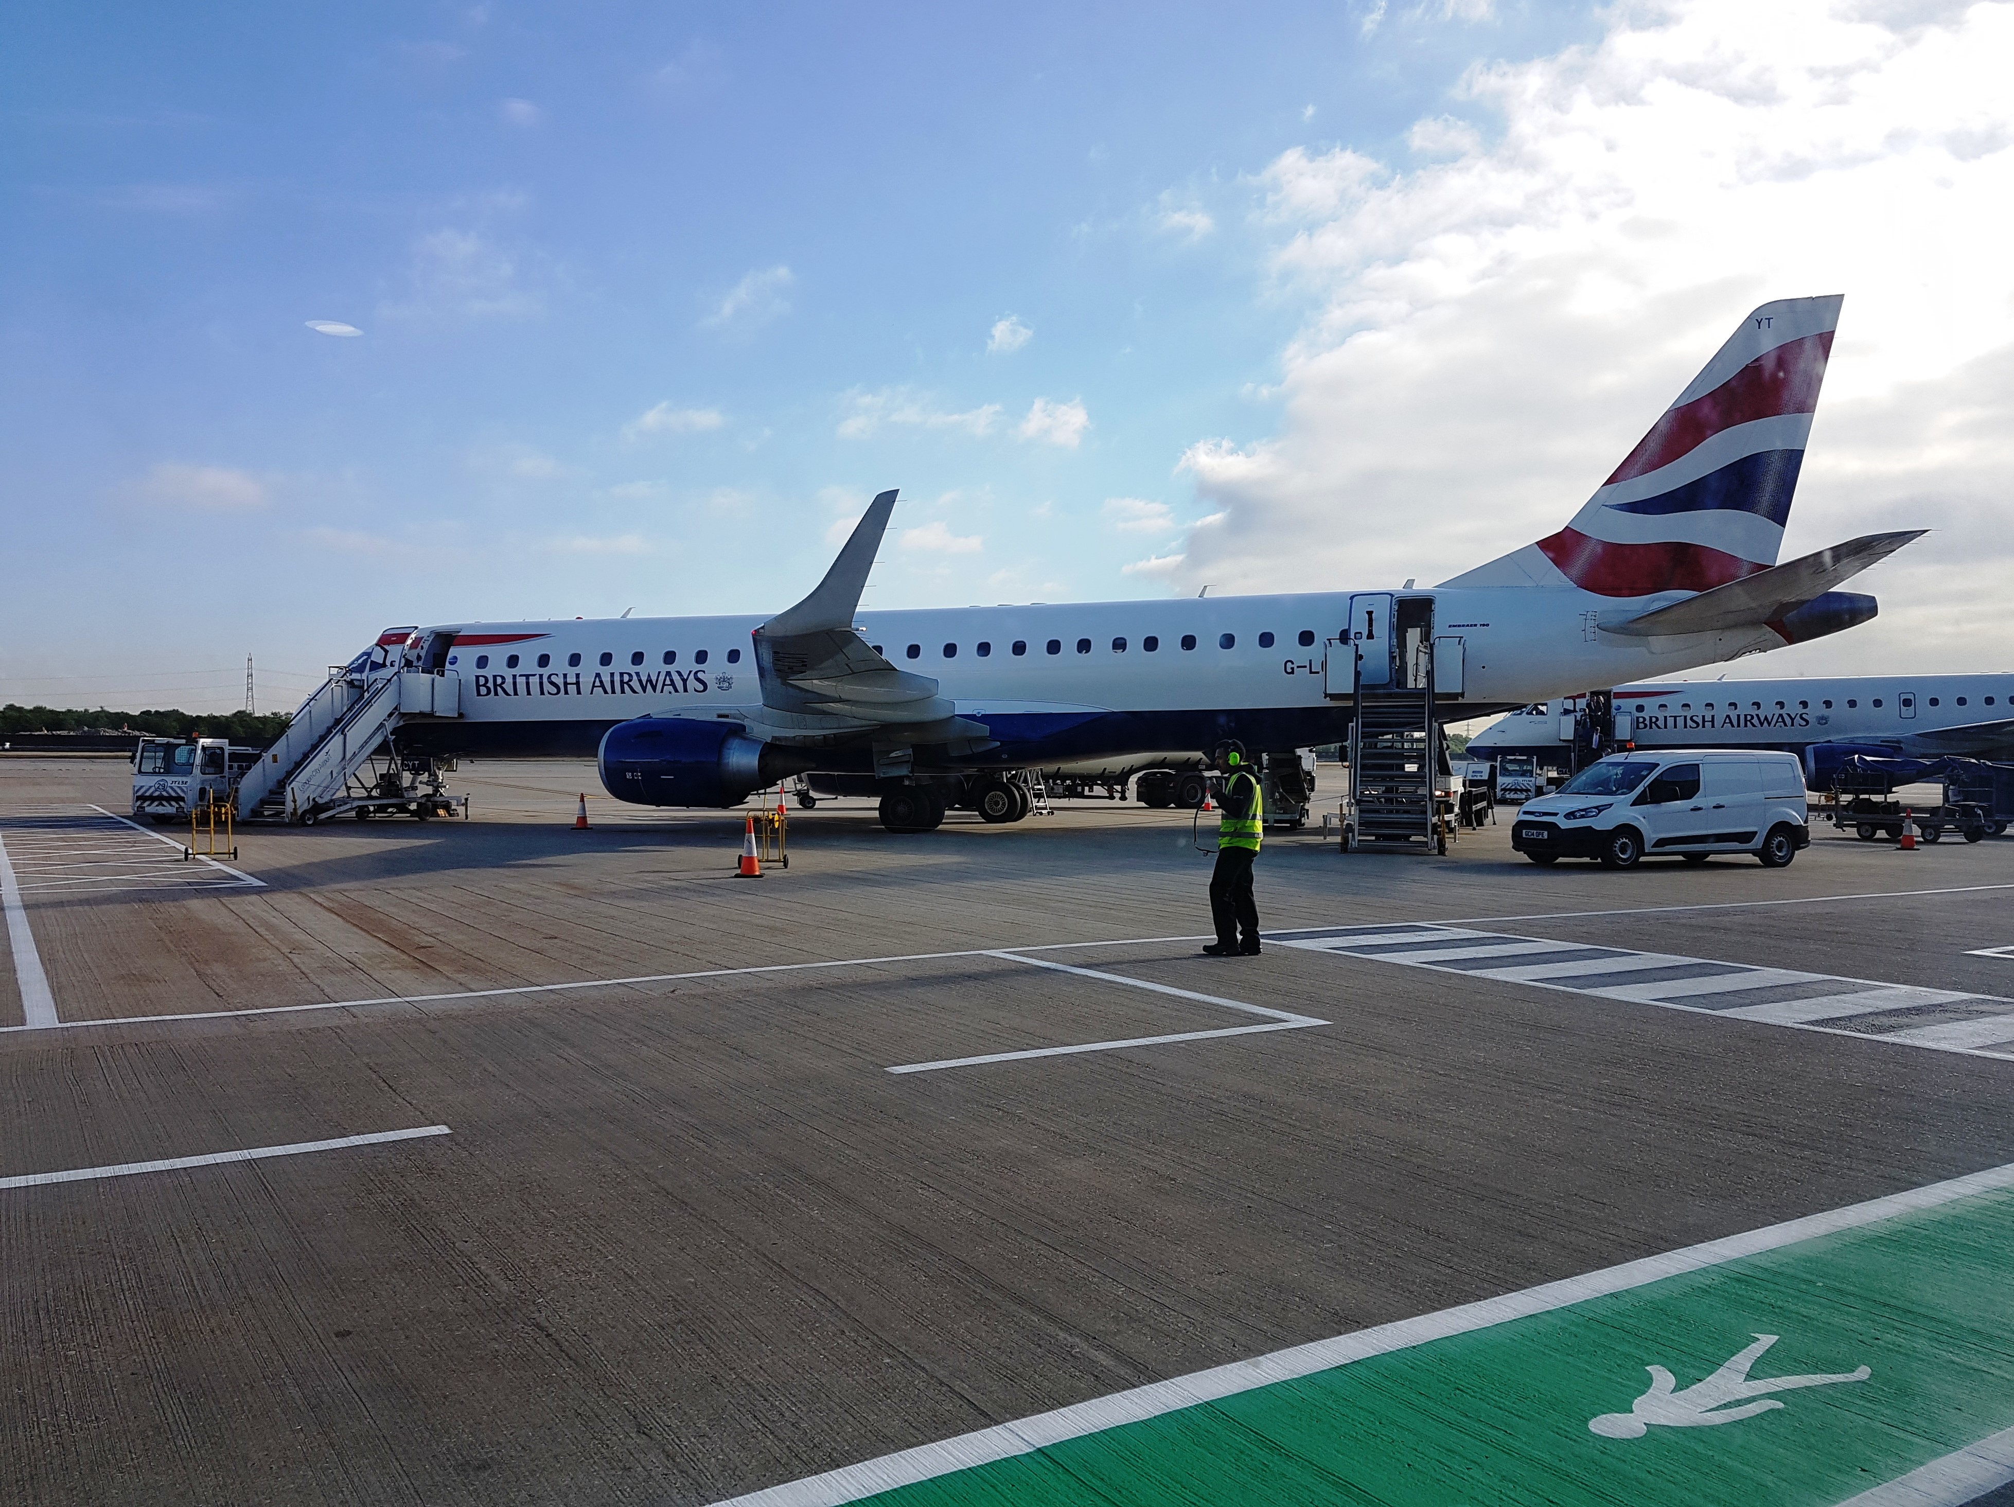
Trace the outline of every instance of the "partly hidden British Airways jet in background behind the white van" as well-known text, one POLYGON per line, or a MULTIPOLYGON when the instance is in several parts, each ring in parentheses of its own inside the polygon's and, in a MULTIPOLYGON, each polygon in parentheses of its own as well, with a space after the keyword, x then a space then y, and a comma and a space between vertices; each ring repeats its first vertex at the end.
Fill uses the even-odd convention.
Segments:
MULTIPOLYGON (((2014 754, 2014 675, 1843 675, 1790 681, 1617 685, 1617 743, 1770 747, 1799 754, 1815 790, 1853 754, 2004 760, 2014 754)), ((1579 697, 1513 711, 1468 739, 1468 758, 1527 754, 1561 762, 1579 697)))

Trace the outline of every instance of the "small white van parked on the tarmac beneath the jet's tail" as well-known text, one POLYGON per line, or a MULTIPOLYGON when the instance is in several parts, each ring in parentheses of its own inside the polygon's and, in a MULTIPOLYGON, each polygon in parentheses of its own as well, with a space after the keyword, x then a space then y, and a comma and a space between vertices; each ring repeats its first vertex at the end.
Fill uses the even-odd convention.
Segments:
POLYGON ((1706 862, 1752 852, 1782 868, 1809 842, 1796 754, 1611 754, 1521 806, 1510 824, 1510 846, 1535 864, 1597 858, 1629 868, 1643 854, 1706 862))

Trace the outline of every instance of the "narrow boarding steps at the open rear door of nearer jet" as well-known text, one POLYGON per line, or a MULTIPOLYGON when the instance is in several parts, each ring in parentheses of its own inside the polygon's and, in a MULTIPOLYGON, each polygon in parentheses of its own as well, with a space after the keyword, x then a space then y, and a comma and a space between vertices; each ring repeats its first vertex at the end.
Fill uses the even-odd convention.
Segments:
POLYGON ((1355 711, 1345 846, 1424 842, 1446 852, 1440 790, 1448 756, 1434 697, 1460 695, 1462 641, 1434 637, 1432 596, 1361 592, 1349 598, 1347 639, 1329 641, 1331 677, 1345 649, 1355 711), (1438 683, 1436 659, 1446 661, 1450 685, 1438 683))

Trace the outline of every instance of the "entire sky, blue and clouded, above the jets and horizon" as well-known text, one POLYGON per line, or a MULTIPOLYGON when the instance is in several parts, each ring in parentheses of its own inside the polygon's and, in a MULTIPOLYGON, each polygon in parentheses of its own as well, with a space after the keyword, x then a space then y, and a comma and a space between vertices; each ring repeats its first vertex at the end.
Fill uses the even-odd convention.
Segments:
POLYGON ((1847 296, 1742 673, 2006 669, 2014 4, 0 12, 0 699, 393 623, 1446 578, 1847 296), (322 334, 310 320, 352 326, 322 334))

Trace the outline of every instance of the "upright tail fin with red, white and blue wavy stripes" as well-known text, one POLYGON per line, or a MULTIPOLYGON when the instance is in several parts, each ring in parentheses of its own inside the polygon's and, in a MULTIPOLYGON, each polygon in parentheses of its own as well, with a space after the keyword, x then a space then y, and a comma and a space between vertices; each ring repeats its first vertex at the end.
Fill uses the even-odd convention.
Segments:
POLYGON ((1571 524, 1444 584, 1639 598, 1776 564, 1841 302, 1762 304, 1571 524))

